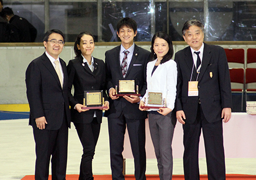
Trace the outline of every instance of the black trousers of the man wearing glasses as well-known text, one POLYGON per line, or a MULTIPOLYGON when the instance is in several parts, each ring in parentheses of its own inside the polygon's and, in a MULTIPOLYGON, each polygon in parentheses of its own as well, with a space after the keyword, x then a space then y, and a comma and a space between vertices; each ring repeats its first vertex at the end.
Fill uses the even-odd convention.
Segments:
POLYGON ((59 130, 39 130, 39 128, 33 127, 33 132, 36 144, 35 179, 48 179, 49 161, 51 159, 52 180, 65 180, 68 154, 68 125, 66 119, 63 119, 59 130))

